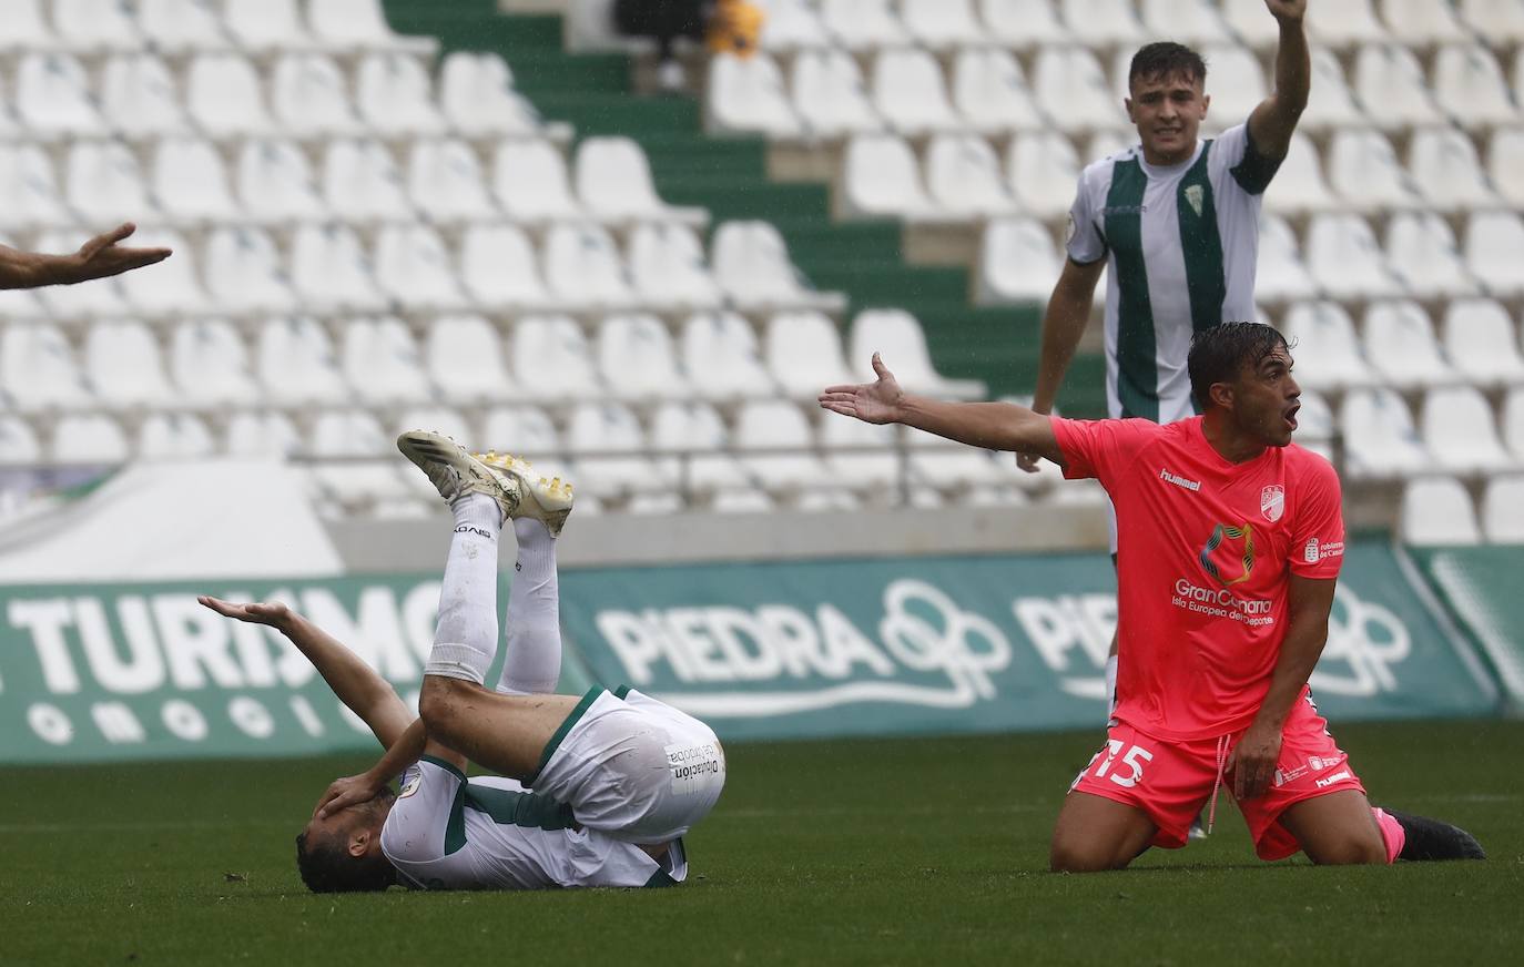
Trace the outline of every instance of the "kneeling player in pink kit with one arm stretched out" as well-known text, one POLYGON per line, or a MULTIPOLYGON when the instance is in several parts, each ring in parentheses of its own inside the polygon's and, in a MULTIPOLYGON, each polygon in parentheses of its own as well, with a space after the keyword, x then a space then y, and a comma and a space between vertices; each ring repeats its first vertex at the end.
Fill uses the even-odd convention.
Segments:
POLYGON ((878 381, 831 387, 826 410, 988 449, 1036 452, 1109 492, 1122 536, 1122 667, 1105 748, 1053 828, 1055 871, 1119 870, 1186 844, 1227 783, 1262 859, 1483 859, 1452 825, 1373 809, 1326 731, 1308 678, 1327 641, 1344 553, 1334 468, 1291 442, 1301 390, 1285 338, 1257 323, 1196 334, 1204 416, 1064 420, 1009 404, 946 404, 878 381))

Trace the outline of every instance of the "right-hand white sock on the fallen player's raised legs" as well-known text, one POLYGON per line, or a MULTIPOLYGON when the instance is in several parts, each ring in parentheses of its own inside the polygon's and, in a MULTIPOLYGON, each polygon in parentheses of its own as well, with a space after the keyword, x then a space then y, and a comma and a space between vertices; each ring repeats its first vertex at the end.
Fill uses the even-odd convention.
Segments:
POLYGON ((544 694, 561 679, 561 585, 556 579, 556 539, 533 518, 514 521, 518 559, 507 592, 507 655, 497 690, 506 694, 544 694))

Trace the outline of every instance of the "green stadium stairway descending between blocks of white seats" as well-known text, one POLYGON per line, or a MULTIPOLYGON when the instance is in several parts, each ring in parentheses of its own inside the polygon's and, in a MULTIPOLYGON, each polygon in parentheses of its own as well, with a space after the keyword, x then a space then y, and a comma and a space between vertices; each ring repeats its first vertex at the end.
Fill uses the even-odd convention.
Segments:
MULTIPOLYGON (((622 134, 639 142, 666 201, 709 209, 712 225, 771 221, 818 289, 847 294, 847 318, 870 308, 907 309, 925 327, 943 375, 983 379, 995 396, 1030 394, 1038 308, 975 306, 968 268, 907 265, 896 221, 832 221, 828 184, 768 180, 764 137, 709 137, 696 99, 634 91, 629 56, 568 53, 561 17, 503 14, 495 0, 384 0, 384 8, 393 29, 436 37, 442 52, 503 55, 515 88, 547 120, 572 123, 578 137, 622 134)), ((1059 407, 1105 416, 1102 373, 1097 353, 1077 355, 1059 407)))

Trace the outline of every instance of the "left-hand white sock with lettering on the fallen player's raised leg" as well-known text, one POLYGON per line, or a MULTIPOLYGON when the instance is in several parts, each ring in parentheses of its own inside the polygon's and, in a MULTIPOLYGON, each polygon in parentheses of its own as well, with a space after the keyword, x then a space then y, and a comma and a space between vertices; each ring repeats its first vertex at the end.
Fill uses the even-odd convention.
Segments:
POLYGON ((485 493, 451 506, 456 533, 439 586, 439 624, 424 675, 482 684, 497 650, 497 542, 503 509, 485 493))

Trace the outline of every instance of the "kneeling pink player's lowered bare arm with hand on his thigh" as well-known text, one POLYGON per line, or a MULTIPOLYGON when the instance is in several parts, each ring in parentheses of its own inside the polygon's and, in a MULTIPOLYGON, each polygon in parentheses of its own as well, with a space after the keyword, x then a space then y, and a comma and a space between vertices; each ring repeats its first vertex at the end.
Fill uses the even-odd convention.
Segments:
POLYGON ((1291 576, 1286 638, 1269 675, 1269 691, 1227 763, 1227 771, 1233 775, 1233 795, 1239 799, 1262 795, 1276 775, 1280 731, 1329 640, 1335 585, 1338 580, 1334 577, 1291 576))

